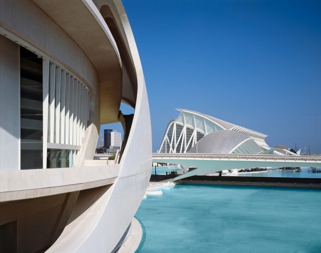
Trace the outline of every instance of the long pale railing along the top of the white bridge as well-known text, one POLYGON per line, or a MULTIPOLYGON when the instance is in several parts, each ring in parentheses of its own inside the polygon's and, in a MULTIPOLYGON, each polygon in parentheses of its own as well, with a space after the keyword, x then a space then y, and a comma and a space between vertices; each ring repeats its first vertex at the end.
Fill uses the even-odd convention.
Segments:
POLYGON ((153 158, 202 158, 202 159, 246 159, 246 160, 286 160, 320 161, 321 156, 273 155, 273 154, 208 154, 208 153, 153 153, 153 158))

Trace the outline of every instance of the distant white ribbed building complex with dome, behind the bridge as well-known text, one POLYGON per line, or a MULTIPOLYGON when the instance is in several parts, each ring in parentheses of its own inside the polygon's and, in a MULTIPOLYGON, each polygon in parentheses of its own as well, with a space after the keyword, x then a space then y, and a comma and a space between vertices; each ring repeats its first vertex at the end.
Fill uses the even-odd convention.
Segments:
POLYGON ((177 110, 181 113, 169 122, 158 153, 295 154, 269 147, 266 134, 192 110, 177 110))

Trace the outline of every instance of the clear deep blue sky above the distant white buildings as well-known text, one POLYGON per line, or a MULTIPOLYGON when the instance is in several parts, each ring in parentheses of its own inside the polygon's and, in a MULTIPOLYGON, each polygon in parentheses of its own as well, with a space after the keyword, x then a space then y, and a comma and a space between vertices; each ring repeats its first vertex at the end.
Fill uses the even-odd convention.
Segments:
POLYGON ((321 153, 321 1, 123 0, 143 66, 153 151, 199 111, 321 153))

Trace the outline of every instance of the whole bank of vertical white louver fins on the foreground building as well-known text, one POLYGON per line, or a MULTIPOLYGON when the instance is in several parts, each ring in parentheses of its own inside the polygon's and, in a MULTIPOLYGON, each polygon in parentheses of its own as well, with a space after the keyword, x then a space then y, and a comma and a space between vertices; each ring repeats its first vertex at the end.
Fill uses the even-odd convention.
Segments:
POLYGON ((50 62, 48 76, 47 142, 81 146, 88 127, 89 90, 76 76, 54 62, 50 62))

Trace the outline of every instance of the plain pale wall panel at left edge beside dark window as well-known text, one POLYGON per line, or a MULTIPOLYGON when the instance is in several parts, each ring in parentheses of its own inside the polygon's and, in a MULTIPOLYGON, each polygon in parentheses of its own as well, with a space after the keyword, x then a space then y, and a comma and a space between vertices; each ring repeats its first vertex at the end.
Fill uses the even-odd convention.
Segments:
MULTIPOLYGON (((5 2, 0 3, 0 6, 4 6, 5 2)), ((6 8, 4 9, 6 10, 6 8)), ((5 10, 1 9, 0 11, 1 20, 5 16, 5 10)), ((19 45, 0 35, 0 174, 4 171, 21 170, 21 153, 23 151, 21 150, 20 93, 19 45)), ((10 184, 10 182, 7 183, 10 184)), ((1 176, 0 185, 4 184, 6 183, 1 176)), ((4 189, 4 187, 1 188, 4 189)))

